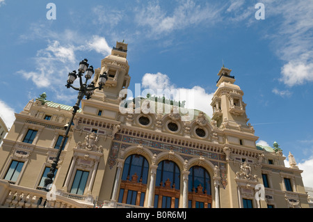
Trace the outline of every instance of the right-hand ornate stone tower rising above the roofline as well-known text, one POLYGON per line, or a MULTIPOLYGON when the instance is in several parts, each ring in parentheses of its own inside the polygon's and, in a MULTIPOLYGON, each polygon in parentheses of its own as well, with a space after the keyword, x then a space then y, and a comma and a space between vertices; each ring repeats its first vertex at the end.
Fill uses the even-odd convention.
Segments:
POLYGON ((238 127, 246 126, 248 118, 246 115, 246 104, 243 102, 243 91, 235 85, 236 79, 230 75, 232 70, 225 67, 218 72, 219 79, 216 86, 211 106, 213 108, 212 120, 216 120, 219 127, 223 121, 238 127))

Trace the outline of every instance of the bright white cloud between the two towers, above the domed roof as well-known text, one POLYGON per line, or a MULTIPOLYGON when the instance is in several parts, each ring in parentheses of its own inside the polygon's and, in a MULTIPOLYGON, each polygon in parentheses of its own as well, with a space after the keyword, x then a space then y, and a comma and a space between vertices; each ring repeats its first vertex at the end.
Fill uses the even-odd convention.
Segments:
POLYGON ((193 88, 179 88, 174 84, 171 84, 168 75, 160 72, 157 74, 146 73, 143 76, 141 86, 147 90, 145 93, 150 93, 159 97, 164 95, 170 100, 180 102, 186 101, 185 107, 188 109, 198 109, 207 113, 208 116, 212 116, 213 114, 210 104, 214 93, 208 94, 204 88, 200 86, 194 86, 193 88))

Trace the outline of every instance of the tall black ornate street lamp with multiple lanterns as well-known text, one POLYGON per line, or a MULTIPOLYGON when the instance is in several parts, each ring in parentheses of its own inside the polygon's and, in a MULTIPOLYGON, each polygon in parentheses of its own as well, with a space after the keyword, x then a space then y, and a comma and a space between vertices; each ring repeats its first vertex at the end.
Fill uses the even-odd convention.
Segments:
POLYGON ((83 61, 79 63, 79 69, 78 69, 78 74, 76 70, 70 72, 68 74, 67 78, 67 85, 65 85, 67 88, 74 88, 74 90, 79 91, 78 97, 77 97, 77 102, 73 106, 73 112, 72 112, 72 118, 70 122, 64 126, 65 128, 65 135, 63 136, 63 139, 61 141, 61 145, 58 148, 58 152, 56 154, 56 157, 54 158, 53 163, 51 164, 50 172, 47 174, 47 178, 45 179, 45 191, 49 191, 48 185, 53 183, 53 177, 54 177, 54 172, 56 171, 56 166, 58 166, 58 161, 60 159, 60 155, 62 152, 63 145, 65 143, 65 140, 67 138, 68 133, 70 132, 70 127, 72 126, 74 116, 76 115, 77 111, 79 110, 79 105, 81 104, 81 100, 83 100, 83 97, 86 96, 86 99, 89 100, 91 95, 93 95, 93 92, 96 89, 102 90, 104 85, 106 84, 106 80, 108 77, 106 76, 106 72, 103 74, 100 74, 99 76, 99 86, 95 87, 95 83, 91 82, 90 84, 87 85, 87 82, 91 77, 93 77, 93 74, 95 71, 93 70, 93 66, 90 65, 88 68, 88 60, 85 58, 83 61), (85 74, 85 83, 83 83, 83 74, 85 74), (72 86, 74 81, 79 77, 79 88, 72 86))

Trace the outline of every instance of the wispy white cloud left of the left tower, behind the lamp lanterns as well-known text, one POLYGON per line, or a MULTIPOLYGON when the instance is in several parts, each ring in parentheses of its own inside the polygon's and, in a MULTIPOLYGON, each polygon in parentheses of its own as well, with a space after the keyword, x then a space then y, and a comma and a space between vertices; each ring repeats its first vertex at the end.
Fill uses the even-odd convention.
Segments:
MULTIPOLYGON (((62 36, 65 35, 71 36, 72 32, 66 31, 62 36)), ((51 36, 56 37, 55 35, 51 36)), ((47 47, 38 50, 33 58, 35 70, 19 70, 17 74, 21 74, 25 79, 31 79, 38 88, 50 86, 56 93, 60 93, 54 86, 63 86, 66 83, 67 73, 71 72, 73 67, 79 63, 76 58, 77 52, 96 51, 103 56, 111 53, 111 48, 105 38, 99 35, 93 35, 91 40, 86 40, 82 44, 75 43, 76 41, 73 41, 72 44, 61 44, 59 40, 49 42, 47 47)))

